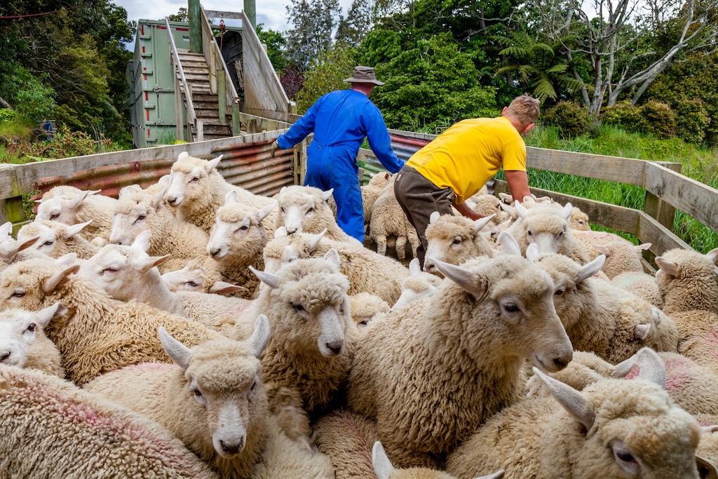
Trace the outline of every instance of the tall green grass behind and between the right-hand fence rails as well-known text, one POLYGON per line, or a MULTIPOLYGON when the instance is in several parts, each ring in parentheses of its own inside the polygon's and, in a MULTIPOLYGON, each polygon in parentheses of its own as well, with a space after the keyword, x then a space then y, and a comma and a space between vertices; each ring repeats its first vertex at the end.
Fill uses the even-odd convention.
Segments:
MULTIPOLYGON (((575 139, 561 139, 557 129, 538 126, 526 137, 526 144, 529 147, 561 149, 567 152, 681 163, 681 173, 718 188, 718 148, 697 147, 677 138, 661 140, 651 135, 627 133, 606 126, 595 138, 583 135, 575 139)), ((528 183, 544 190, 643 210, 645 190, 633 185, 531 169, 528 172, 528 183)), ((595 229, 611 231, 599 226, 595 229)), ((718 248, 718 233, 681 211, 676 211, 673 233, 696 251, 707 253, 718 248)), ((621 236, 638 243, 631 235, 621 233, 621 236)))

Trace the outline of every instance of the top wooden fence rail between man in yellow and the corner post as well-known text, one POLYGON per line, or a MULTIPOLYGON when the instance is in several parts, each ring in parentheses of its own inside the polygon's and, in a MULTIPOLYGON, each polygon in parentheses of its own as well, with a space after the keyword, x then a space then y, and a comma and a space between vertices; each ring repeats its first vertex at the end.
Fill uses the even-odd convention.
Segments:
POLYGON ((647 163, 650 162, 643 159, 606 157, 598 154, 526 147, 526 166, 530 168, 640 187, 643 187, 645 164, 647 163))

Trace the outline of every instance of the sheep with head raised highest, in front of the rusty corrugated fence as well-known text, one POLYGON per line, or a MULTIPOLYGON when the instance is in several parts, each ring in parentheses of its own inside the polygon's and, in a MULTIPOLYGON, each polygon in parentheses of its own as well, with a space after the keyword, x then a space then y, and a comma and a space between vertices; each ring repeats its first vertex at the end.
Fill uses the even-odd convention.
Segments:
MULTIPOLYGON (((180 153, 177 161, 172 164, 169 187, 164 195, 167 204, 176 208, 181 218, 199 226, 208 234, 228 192, 236 191, 239 203, 256 210, 271 205, 273 201, 228 183, 217 170, 221 159, 222 155, 207 161, 190 157, 187 152, 180 153)), ((270 220, 268 218, 267 221, 270 220)))

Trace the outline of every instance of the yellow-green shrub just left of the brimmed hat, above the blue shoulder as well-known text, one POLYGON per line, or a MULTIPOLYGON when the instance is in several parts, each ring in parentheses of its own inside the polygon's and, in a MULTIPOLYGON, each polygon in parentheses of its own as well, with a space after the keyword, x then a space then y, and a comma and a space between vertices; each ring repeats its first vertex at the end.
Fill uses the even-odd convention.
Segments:
POLYGON ((323 52, 314 67, 304 73, 302 90, 296 97, 297 111, 304 114, 325 93, 349 88, 350 84, 342 80, 352 76, 356 55, 355 48, 342 44, 323 52))

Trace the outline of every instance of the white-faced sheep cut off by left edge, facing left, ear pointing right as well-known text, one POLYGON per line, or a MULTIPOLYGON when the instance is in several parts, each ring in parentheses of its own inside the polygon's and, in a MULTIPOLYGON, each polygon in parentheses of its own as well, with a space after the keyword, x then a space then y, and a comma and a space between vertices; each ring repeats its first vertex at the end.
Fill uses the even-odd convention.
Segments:
POLYGON ((43 329, 50 320, 65 313, 67 308, 60 302, 37 312, 15 309, 0 312, 0 363, 39 369, 64 378, 60 351, 43 329))

